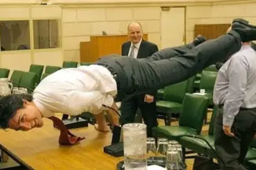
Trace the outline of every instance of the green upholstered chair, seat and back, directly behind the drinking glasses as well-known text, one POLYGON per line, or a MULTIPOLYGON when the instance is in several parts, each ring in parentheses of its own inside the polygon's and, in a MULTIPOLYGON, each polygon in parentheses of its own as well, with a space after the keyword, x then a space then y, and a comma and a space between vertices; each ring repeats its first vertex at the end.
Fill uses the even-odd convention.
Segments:
POLYGON ((178 140, 184 135, 199 135, 203 127, 203 118, 208 109, 208 100, 203 95, 185 94, 179 126, 159 126, 152 129, 156 138, 178 140))

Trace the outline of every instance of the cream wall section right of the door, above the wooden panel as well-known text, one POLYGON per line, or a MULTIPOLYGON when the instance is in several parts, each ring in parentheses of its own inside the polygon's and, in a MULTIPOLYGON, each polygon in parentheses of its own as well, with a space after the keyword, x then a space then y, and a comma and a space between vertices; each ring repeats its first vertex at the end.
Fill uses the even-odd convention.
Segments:
POLYGON ((187 42, 194 39, 195 24, 232 23, 234 18, 244 18, 256 25, 256 2, 215 6, 188 6, 186 14, 187 42))

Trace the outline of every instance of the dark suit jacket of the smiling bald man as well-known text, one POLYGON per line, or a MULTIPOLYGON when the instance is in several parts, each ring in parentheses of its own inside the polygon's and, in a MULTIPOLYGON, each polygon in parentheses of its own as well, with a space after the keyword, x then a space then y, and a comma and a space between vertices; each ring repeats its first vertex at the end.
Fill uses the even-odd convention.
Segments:
MULTIPOLYGON (((122 56, 128 56, 131 47, 131 41, 127 41, 122 44, 122 56)), ((143 59, 148 56, 152 56, 155 52, 158 52, 158 47, 154 43, 142 40, 140 43, 140 48, 138 49, 137 59, 143 59)), ((157 90, 156 90, 157 92, 157 90)), ((149 93, 150 95, 156 96, 156 92, 149 93)))

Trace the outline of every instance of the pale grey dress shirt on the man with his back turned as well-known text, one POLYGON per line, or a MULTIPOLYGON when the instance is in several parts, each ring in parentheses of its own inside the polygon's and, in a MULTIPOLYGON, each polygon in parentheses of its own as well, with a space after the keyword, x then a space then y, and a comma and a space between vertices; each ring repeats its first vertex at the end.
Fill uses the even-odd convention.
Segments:
POLYGON ((256 52, 243 45, 219 70, 213 102, 223 105, 223 125, 232 126, 239 107, 256 107, 256 52))

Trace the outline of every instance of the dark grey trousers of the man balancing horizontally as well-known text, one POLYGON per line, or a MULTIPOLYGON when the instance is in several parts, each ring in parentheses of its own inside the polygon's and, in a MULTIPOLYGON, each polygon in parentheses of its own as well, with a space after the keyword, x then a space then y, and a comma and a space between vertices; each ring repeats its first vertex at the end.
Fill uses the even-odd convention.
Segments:
POLYGON ((118 97, 153 92, 185 81, 205 67, 223 61, 227 56, 239 51, 241 39, 237 32, 230 32, 218 39, 205 41, 196 47, 182 45, 170 47, 145 59, 104 56, 97 64, 109 65, 118 75, 118 97))

